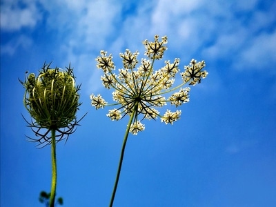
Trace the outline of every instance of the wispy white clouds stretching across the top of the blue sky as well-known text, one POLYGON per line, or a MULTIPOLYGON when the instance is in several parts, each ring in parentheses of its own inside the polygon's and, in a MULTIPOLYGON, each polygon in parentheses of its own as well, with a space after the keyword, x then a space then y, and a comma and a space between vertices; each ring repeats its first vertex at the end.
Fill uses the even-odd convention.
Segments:
MULTIPOLYGON (((129 47, 143 53, 141 41, 154 34, 168 35, 171 57, 184 64, 191 58, 228 59, 229 68, 243 70, 259 69, 261 62, 276 63, 275 1, 8 2, 1 3, 1 29, 40 29, 38 23, 45 18, 48 32, 61 37, 57 54, 62 54, 64 63, 75 62, 76 68, 94 66, 99 50, 115 57, 129 47)), ((9 41, 6 53, 12 55, 18 45, 9 41)))

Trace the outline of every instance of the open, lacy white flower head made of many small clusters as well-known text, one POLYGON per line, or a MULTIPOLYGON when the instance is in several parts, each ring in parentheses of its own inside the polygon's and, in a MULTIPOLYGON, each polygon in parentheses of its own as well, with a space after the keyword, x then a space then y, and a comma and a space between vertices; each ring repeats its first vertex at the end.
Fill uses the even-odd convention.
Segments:
POLYGON ((120 53, 119 56, 123 61, 124 68, 119 69, 119 73, 116 75, 115 64, 112 61, 112 55, 107 55, 106 51, 101 51, 100 56, 97 57, 97 68, 103 70, 103 76, 101 81, 105 88, 115 89, 112 92, 113 101, 108 103, 101 97, 101 95, 90 95, 91 104, 96 109, 103 108, 104 106, 118 106, 112 110, 109 110, 108 117, 111 120, 119 120, 129 115, 134 117, 131 121, 130 132, 137 135, 137 132, 145 129, 144 124, 141 124, 141 119, 157 119, 161 118, 161 122, 165 124, 173 124, 180 118, 181 110, 171 112, 166 110, 164 115, 160 115, 157 108, 165 106, 166 103, 171 103, 175 106, 181 106, 183 103, 189 101, 190 88, 181 88, 184 84, 189 83, 195 86, 196 83, 201 82, 201 78, 204 79, 208 72, 202 71, 205 66, 204 61, 197 63, 194 59, 190 61, 190 66, 185 66, 184 72, 181 72, 183 82, 179 86, 172 88, 172 84, 175 82, 175 76, 179 72, 179 59, 175 59, 172 63, 165 61, 165 66, 159 68, 159 70, 153 69, 153 63, 155 60, 161 59, 164 56, 164 51, 167 49, 166 43, 167 37, 162 37, 159 41, 159 37, 155 36, 155 41, 145 40, 144 46, 146 48, 145 55, 148 58, 141 59, 141 64, 137 67, 137 57, 139 52, 126 52, 120 53), (174 92, 168 98, 164 97, 166 93, 174 92))

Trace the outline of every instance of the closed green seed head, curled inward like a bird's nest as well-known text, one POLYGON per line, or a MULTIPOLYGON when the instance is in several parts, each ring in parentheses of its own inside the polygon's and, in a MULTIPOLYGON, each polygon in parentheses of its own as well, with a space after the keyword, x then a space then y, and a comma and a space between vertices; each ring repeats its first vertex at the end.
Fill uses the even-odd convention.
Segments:
MULTIPOLYGON (((81 105, 80 86, 76 86, 72 68, 53 69, 44 64, 37 77, 31 73, 21 83, 26 88, 23 103, 34 120, 29 125, 32 128, 46 128, 48 132, 57 130, 61 138, 63 134, 69 135, 78 123, 76 114, 81 105)), ((34 132, 37 135, 39 130, 34 132)), ((47 135, 41 137, 46 140, 47 135)))

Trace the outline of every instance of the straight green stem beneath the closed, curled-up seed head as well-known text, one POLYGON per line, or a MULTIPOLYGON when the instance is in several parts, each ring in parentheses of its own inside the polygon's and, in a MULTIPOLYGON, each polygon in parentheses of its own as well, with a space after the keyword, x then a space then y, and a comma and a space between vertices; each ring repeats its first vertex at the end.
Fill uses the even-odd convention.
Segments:
POLYGON ((52 153, 52 187, 50 194, 50 207, 55 205, 55 196, 57 188, 57 159, 56 159, 56 131, 52 129, 52 144, 51 144, 51 153, 52 153))

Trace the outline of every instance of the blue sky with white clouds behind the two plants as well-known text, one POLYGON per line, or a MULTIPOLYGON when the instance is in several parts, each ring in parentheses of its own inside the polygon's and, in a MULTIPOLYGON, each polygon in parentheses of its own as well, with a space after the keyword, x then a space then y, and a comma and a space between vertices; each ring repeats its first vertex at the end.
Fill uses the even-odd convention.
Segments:
POLYGON ((37 149, 23 114, 25 72, 71 63, 81 83, 81 126, 57 144, 64 206, 108 206, 128 119, 110 121, 89 95, 101 85, 95 58, 139 50, 168 36, 164 60, 206 61, 173 126, 144 121, 130 135, 114 206, 276 206, 276 2, 1 1, 1 206, 43 206, 50 147, 37 149))

